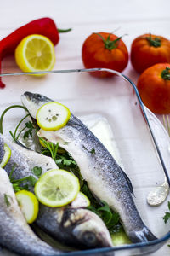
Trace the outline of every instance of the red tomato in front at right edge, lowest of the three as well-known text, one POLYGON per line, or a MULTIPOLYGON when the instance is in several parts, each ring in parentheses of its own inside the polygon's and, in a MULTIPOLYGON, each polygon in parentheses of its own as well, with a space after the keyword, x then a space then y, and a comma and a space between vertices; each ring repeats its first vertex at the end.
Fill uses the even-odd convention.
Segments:
POLYGON ((137 84, 144 105, 154 113, 170 113, 170 64, 147 68, 137 84))

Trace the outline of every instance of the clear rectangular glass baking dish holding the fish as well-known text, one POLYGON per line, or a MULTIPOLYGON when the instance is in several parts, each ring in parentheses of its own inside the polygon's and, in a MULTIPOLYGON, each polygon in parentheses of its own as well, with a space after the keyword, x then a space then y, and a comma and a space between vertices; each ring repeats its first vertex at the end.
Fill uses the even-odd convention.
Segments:
MULTIPOLYGON (((134 201, 139 214, 144 224, 158 237, 156 241, 61 255, 126 256, 156 252, 170 238, 169 226, 162 219, 167 211, 169 195, 158 207, 150 207, 146 201, 150 190, 163 183, 165 177, 170 185, 167 171, 170 170, 170 139, 160 121, 144 107, 136 86, 122 73, 104 68, 40 73, 48 74, 43 77, 28 75, 32 73, 1 74, 7 85, 6 89, 1 90, 1 113, 10 105, 20 104, 20 95, 31 91, 64 103, 81 119, 92 119, 93 115, 105 119, 111 126, 111 143, 115 143, 118 148, 122 166, 133 183, 134 201), (97 79, 89 75, 96 71, 111 72, 114 76, 97 79)), ((23 114, 23 110, 18 109, 8 112, 3 124, 6 135, 14 129, 23 114)), ((8 255, 8 252, 3 250, 0 255, 8 255)))

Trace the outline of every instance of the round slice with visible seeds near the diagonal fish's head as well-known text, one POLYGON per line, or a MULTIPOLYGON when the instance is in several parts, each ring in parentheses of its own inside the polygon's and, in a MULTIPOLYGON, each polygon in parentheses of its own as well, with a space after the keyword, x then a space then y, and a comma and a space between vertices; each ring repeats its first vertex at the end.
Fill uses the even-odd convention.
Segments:
POLYGON ((37 111, 37 125, 45 131, 56 131, 66 125, 71 117, 69 108, 58 102, 42 105, 37 111))

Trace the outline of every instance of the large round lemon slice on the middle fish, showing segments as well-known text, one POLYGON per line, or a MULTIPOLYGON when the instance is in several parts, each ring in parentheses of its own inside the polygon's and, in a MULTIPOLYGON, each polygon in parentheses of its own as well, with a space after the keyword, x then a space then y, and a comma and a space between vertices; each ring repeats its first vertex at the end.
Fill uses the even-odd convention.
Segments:
POLYGON ((34 188, 37 199, 48 207, 63 207, 73 201, 80 190, 78 178, 71 172, 53 169, 39 178, 34 188))

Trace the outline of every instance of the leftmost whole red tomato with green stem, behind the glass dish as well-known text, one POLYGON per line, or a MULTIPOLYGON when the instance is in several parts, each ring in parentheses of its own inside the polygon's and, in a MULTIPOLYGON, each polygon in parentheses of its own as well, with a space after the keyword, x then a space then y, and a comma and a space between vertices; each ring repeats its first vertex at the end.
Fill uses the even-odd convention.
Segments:
MULTIPOLYGON (((106 32, 93 33, 82 45, 82 61, 84 67, 105 67, 122 72, 127 67, 127 47, 121 38, 106 32)), ((112 73, 93 72, 97 77, 111 77, 112 73)))

